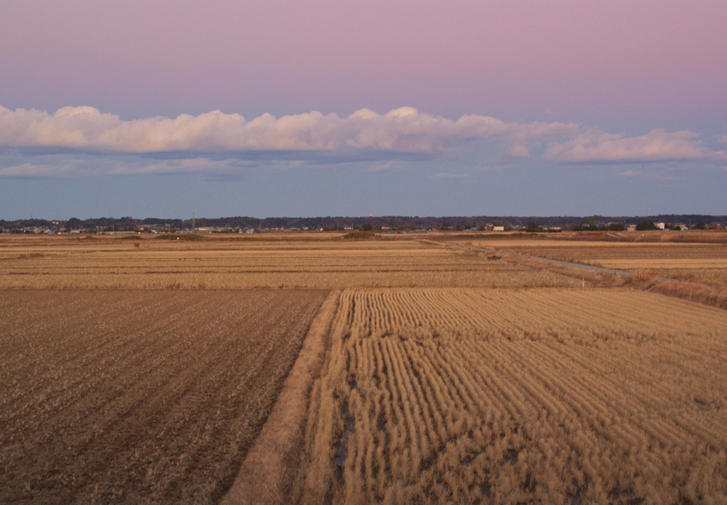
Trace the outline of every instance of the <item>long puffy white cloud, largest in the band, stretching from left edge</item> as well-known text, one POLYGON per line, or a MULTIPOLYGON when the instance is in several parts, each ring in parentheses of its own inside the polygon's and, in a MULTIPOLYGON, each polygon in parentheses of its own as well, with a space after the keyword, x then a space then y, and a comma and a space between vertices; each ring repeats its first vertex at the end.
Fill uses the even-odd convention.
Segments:
POLYGON ((198 116, 122 121, 92 107, 65 107, 49 114, 0 107, 0 146, 78 148, 113 153, 169 151, 336 151, 364 150, 433 154, 468 140, 510 139, 514 156, 530 143, 574 132, 562 123, 507 123, 466 115, 452 121, 412 107, 377 114, 361 109, 348 117, 310 112, 252 121, 212 111, 198 116))

